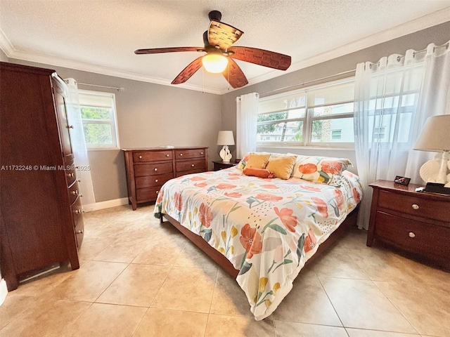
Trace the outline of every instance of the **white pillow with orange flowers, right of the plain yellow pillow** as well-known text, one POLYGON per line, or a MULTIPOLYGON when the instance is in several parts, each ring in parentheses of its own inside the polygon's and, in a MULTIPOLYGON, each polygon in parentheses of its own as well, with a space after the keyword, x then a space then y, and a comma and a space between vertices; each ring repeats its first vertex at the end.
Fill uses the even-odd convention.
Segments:
POLYGON ((341 176, 342 171, 352 162, 346 158, 302 157, 297 160, 293 169, 293 177, 333 185, 333 181, 341 176))

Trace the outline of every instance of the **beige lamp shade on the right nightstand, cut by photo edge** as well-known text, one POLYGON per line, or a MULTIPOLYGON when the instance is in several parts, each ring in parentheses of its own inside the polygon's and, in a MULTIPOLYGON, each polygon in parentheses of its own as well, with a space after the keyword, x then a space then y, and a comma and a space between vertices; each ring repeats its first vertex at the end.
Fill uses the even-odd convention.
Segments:
POLYGON ((414 150, 450 151, 450 114, 428 117, 414 150))

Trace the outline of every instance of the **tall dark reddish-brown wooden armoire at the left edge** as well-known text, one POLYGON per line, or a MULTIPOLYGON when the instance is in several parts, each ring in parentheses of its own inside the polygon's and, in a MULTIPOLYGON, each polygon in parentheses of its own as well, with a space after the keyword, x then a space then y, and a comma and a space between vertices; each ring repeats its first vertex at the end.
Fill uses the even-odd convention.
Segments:
POLYGON ((79 268, 83 219, 67 86, 54 70, 0 62, 1 274, 8 290, 55 263, 79 268))

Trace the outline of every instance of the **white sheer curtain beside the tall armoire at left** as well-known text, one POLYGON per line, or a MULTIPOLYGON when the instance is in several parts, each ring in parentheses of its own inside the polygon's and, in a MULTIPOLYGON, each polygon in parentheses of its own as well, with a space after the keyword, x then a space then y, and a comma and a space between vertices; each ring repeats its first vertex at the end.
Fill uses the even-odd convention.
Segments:
POLYGON ((91 171, 86 169, 89 167, 89 158, 86 150, 86 140, 84 140, 84 131, 82 123, 82 115, 79 111, 78 86, 75 79, 65 79, 69 87, 69 94, 66 98, 68 107, 68 122, 73 125, 70 129, 70 140, 72 142, 72 151, 75 165, 79 166, 77 178, 79 181, 79 190, 83 194, 81 199, 82 205, 86 211, 92 211, 96 199, 94 197, 94 187, 92 186, 91 171))

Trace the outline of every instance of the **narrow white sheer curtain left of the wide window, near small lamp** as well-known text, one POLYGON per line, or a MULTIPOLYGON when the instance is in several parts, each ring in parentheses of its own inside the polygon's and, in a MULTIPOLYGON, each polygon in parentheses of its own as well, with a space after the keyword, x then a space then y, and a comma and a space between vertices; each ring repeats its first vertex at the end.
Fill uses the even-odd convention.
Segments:
POLYGON ((256 151, 258 102, 258 93, 248 93, 236 98, 237 158, 242 158, 250 151, 256 151))

